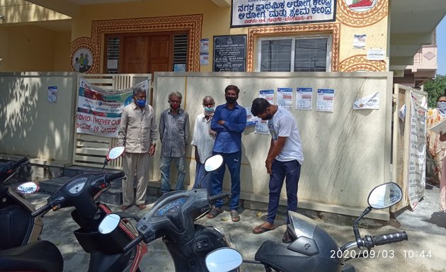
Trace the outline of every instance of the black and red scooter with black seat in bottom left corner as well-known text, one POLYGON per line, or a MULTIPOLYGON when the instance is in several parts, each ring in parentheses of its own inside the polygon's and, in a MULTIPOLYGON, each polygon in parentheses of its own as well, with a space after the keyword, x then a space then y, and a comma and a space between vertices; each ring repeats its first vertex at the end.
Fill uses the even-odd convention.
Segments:
MULTIPOLYGON (((122 152, 124 152, 123 147, 115 147, 110 150, 107 159, 116 159, 122 152)), ((118 227, 106 235, 98 232, 99 223, 111 213, 111 210, 103 203, 96 203, 96 199, 110 188, 111 181, 121 179, 123 176, 125 174, 122 171, 115 174, 101 172, 75 176, 47 198, 46 205, 32 213, 34 217, 37 217, 51 209, 75 208, 72 211, 72 218, 80 228, 74 231, 74 235, 82 249, 90 254, 88 271, 139 271, 139 262, 147 252, 147 246, 143 243, 135 244, 135 247, 130 251, 122 251, 125 244, 137 237, 137 230, 128 220, 120 220, 118 227)), ((22 187, 24 193, 37 189, 36 185, 34 188, 32 186, 22 187)), ((8 270, 11 267, 22 271, 47 271, 46 267, 39 266, 40 258, 54 263, 59 268, 52 271, 62 271, 63 260, 60 251, 54 244, 47 241, 42 242, 44 243, 34 246, 33 244, 27 245, 26 248, 21 246, 12 252, 0 251, 0 271, 11 271, 8 270), (45 247, 48 247, 50 252, 44 250, 45 247), (35 266, 29 266, 29 263, 35 266)))

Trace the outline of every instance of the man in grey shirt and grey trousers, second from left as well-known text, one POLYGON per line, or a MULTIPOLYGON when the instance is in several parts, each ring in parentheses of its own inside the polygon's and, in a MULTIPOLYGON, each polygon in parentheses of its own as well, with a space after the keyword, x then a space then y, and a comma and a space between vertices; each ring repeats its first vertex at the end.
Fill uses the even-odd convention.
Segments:
POLYGON ((189 114, 181 107, 183 96, 178 91, 168 95, 167 108, 161 113, 159 119, 159 140, 161 140, 161 193, 171 191, 171 163, 175 161, 176 190, 184 190, 185 177, 185 146, 189 137, 189 114))

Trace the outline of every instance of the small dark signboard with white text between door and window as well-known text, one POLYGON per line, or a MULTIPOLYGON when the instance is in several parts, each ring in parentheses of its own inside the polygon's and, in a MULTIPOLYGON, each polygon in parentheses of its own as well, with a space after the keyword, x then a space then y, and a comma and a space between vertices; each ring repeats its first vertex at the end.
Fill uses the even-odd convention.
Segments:
POLYGON ((246 35, 214 36, 213 72, 245 72, 246 35))

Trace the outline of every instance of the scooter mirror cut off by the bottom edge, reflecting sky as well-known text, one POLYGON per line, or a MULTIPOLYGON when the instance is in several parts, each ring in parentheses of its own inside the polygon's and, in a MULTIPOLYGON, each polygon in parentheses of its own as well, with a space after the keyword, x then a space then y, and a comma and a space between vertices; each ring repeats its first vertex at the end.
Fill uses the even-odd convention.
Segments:
POLYGON ((231 271, 241 266, 242 262, 239 251, 230 247, 215 249, 206 256, 206 267, 209 272, 231 271))

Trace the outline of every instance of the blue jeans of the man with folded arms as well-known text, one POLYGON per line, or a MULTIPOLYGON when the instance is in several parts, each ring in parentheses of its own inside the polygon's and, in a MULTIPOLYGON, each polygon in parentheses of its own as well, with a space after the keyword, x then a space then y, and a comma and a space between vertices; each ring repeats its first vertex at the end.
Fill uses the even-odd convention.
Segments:
MULTIPOLYGON (((241 167, 241 151, 234 153, 215 153, 220 154, 223 157, 223 165, 215 171, 212 176, 212 196, 222 193, 224 171, 226 170, 225 164, 228 166, 229 173, 231 173, 231 201, 229 202, 229 208, 231 210, 237 210, 239 208, 240 200, 240 167, 241 167)), ((221 208, 223 200, 215 201, 215 208, 221 208)))

